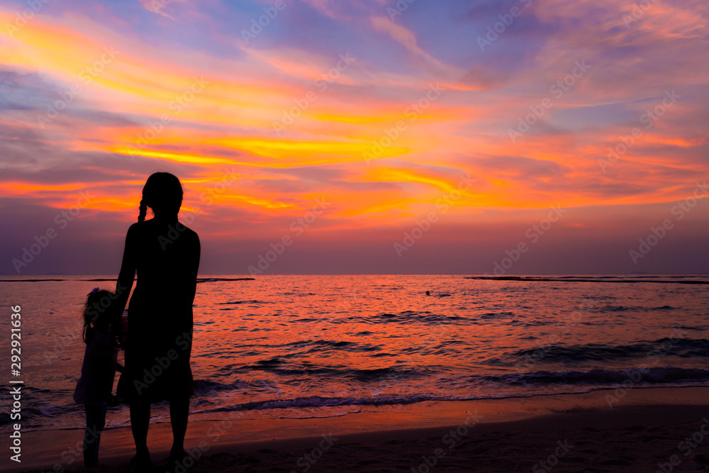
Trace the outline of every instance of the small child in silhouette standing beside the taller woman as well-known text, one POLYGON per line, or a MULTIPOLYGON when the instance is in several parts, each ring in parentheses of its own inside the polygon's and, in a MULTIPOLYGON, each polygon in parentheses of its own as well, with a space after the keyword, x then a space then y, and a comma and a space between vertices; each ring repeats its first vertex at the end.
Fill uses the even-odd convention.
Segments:
POLYGON ((116 296, 109 291, 94 288, 86 294, 83 338, 86 343, 82 376, 74 389, 74 401, 84 404, 86 430, 84 432, 84 466, 99 465, 101 431, 106 424, 106 406, 111 401, 113 377, 116 374, 118 347, 113 341, 111 324, 120 320, 114 303, 116 296))

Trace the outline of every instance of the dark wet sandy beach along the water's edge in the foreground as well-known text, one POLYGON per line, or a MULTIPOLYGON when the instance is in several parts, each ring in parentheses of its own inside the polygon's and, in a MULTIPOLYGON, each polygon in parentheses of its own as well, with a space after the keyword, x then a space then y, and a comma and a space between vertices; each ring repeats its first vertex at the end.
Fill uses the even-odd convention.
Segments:
MULTIPOLYGON (((709 470, 709 389, 600 390, 451 401, 337 418, 191 423, 190 472, 655 472, 709 470), (613 397, 607 397, 613 396, 613 397), (613 408, 608 400, 613 401, 613 408)), ((82 471, 80 430, 23 434, 21 467, 82 471), (80 445, 80 444, 79 444, 80 445)), ((151 425, 155 472, 167 471, 169 424, 151 425)), ((130 430, 106 430, 101 469, 123 472, 130 430)), ((182 471, 182 469, 177 469, 182 471)))

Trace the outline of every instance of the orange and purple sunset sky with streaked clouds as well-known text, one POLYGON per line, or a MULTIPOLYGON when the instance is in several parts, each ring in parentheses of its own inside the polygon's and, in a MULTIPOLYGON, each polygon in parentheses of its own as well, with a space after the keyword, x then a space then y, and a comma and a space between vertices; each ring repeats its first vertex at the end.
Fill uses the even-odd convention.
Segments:
POLYGON ((703 0, 0 0, 0 272, 702 273, 703 0))

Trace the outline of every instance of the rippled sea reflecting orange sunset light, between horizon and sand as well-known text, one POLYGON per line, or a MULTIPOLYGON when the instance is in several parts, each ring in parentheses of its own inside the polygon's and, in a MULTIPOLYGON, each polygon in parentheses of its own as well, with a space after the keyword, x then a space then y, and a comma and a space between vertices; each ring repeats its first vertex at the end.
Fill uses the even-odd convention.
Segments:
MULTIPOLYGON (((200 276, 190 421, 709 385, 708 276, 247 277, 200 276)), ((95 286, 115 289, 115 275, 0 279, 0 428, 11 428, 10 379, 23 381, 24 431, 83 428, 72 400, 82 304, 95 286), (6 356, 11 306, 21 306, 18 377, 6 356)), ((169 422, 167 403, 152 420, 169 422)), ((106 423, 130 425, 128 406, 109 408, 106 423)))

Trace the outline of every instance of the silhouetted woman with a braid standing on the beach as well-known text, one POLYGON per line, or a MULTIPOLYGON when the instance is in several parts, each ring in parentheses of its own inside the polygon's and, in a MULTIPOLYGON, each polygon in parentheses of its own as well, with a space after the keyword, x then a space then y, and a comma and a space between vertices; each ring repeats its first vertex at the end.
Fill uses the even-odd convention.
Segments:
MULTIPOLYGON (((184 458, 189 397, 194 394, 189 357, 192 347, 192 303, 199 267, 199 237, 177 221, 182 184, 168 172, 156 172, 145 182, 138 223, 128 228, 118 275, 119 308, 128 301, 133 277, 135 291, 128 305, 125 369, 118 395, 130 403, 130 427, 135 440, 131 469, 150 468, 147 429, 150 404, 169 400, 173 444, 169 464, 184 458), (147 207, 155 218, 145 221, 147 207)), ((120 327, 120 324, 116 324, 120 327)))

